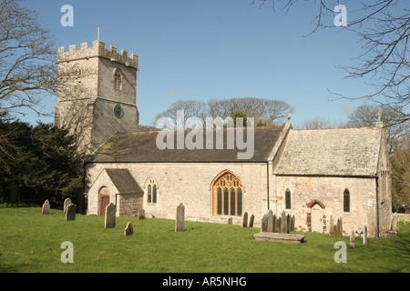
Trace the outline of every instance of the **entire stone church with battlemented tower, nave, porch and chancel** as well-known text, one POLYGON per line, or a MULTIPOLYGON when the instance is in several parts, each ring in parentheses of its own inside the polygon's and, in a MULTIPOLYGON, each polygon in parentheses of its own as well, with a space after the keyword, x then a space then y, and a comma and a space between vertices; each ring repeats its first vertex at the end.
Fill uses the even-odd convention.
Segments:
MULTIPOLYGON (((272 209, 294 215, 295 230, 327 233, 331 216, 343 217, 345 235, 364 226, 374 237, 388 230, 391 169, 382 121, 294 130, 289 117, 284 125, 254 128, 250 159, 238 159, 243 150, 227 146, 226 128, 219 130, 221 147, 159 149, 159 131, 138 132, 138 55, 118 54, 99 40, 57 53, 72 90, 58 95, 56 125, 70 129, 88 156, 88 215, 104 215, 112 202, 117 216, 137 216, 143 208, 148 216, 174 219, 182 203, 186 219, 195 221, 232 217, 239 224, 247 212, 258 226, 272 209)), ((190 135, 181 132, 170 135, 190 135)))

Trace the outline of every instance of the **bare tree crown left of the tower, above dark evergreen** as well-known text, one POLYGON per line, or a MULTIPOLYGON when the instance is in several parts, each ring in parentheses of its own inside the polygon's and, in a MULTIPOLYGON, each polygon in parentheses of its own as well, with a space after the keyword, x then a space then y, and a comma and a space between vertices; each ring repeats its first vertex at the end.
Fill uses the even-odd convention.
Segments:
POLYGON ((38 115, 41 93, 56 92, 56 53, 50 32, 20 0, 0 1, 0 112, 38 115))

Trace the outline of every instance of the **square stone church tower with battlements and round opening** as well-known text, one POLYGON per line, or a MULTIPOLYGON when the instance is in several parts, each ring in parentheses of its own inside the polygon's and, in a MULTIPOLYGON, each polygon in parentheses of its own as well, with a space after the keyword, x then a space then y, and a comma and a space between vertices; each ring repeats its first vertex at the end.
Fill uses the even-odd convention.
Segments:
POLYGON ((93 154, 119 133, 138 130, 138 55, 103 41, 57 50, 55 125, 75 136, 78 154, 93 154))

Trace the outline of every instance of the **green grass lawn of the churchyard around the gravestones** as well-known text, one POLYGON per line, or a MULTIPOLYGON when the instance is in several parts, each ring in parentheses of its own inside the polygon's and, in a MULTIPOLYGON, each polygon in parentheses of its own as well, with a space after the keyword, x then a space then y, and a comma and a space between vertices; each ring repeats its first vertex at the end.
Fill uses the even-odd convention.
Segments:
POLYGON ((348 237, 302 233, 306 244, 254 241, 258 228, 118 217, 104 228, 104 217, 77 215, 67 222, 62 211, 41 215, 38 207, 0 207, 0 272, 410 272, 410 224, 394 239, 369 238, 356 248, 348 237), (128 221, 133 236, 124 236, 128 221), (334 243, 347 245, 347 263, 333 260, 334 243), (74 245, 74 263, 63 264, 61 243, 74 245))

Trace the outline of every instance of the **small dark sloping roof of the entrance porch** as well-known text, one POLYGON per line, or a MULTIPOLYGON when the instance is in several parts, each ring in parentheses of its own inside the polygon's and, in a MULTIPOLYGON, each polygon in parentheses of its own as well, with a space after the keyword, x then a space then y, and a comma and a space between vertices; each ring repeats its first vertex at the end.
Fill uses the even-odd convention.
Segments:
POLYGON ((129 173, 128 169, 104 169, 114 186, 118 190, 118 194, 141 194, 144 190, 138 185, 134 177, 129 173))

